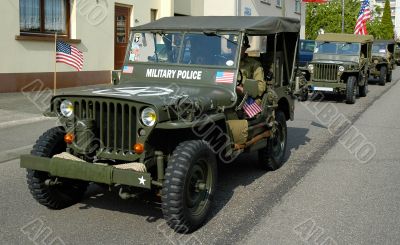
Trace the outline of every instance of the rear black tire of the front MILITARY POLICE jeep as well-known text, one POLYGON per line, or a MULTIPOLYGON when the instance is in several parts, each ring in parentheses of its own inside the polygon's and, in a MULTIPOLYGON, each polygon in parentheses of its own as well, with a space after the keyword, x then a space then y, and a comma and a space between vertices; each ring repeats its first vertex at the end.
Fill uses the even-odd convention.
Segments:
POLYGON ((274 137, 269 138, 267 146, 258 151, 258 166, 265 170, 279 169, 286 156, 287 125, 282 111, 276 111, 277 130, 274 137))

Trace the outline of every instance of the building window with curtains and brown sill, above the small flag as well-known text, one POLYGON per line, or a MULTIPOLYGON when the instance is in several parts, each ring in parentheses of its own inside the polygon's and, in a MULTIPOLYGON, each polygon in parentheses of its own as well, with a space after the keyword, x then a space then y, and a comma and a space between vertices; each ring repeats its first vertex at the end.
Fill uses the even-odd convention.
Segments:
POLYGON ((68 36, 69 0, 19 0, 21 34, 68 36))

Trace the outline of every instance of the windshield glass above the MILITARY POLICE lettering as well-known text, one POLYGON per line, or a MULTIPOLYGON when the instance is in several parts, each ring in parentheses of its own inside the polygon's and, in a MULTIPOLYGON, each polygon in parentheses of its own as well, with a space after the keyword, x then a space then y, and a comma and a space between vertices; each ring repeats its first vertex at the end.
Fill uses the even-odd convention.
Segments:
POLYGON ((133 33, 127 62, 235 67, 237 42, 231 33, 133 33))

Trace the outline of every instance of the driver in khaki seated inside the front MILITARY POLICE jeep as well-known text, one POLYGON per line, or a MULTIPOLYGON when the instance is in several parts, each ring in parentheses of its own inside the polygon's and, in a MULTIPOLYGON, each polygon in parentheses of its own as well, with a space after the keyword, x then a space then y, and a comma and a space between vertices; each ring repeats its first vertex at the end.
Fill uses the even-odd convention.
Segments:
MULTIPOLYGON (((264 81, 264 70, 261 66, 261 63, 252 57, 249 57, 246 53, 246 50, 250 47, 249 38, 244 36, 242 43, 242 50, 240 53, 240 73, 242 75, 241 84, 237 86, 237 92, 239 94, 243 94, 243 84, 246 82, 246 79, 253 79, 258 81, 258 97, 256 99, 257 104, 261 104, 261 96, 264 94, 266 89, 266 83, 264 81)), ((240 74, 239 74, 240 76, 240 74)))

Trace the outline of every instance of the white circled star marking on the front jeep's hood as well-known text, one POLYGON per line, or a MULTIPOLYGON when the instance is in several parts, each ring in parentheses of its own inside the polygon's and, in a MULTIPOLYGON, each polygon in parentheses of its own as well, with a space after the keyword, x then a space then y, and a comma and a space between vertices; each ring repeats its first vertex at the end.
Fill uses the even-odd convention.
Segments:
POLYGON ((114 95, 114 96, 162 96, 173 93, 174 90, 160 87, 126 87, 126 88, 111 88, 92 91, 98 95, 114 95))

